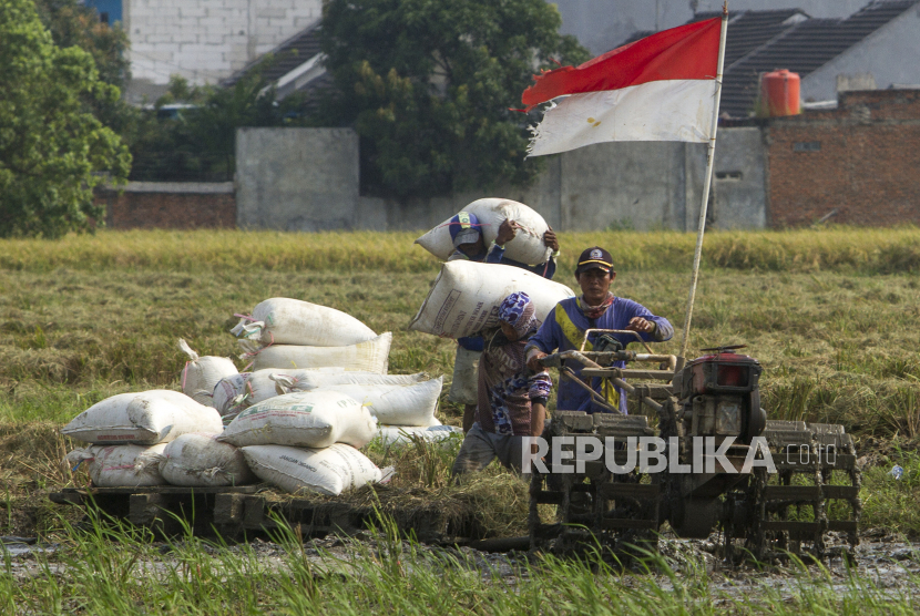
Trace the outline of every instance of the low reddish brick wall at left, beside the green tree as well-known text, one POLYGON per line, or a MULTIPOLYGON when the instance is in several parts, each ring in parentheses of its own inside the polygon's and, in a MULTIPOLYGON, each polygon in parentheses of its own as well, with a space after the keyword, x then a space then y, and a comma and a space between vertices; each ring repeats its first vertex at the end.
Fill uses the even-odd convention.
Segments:
POLYGON ((100 191, 96 199, 105 203, 105 223, 113 229, 236 227, 233 183, 132 182, 121 193, 100 191))

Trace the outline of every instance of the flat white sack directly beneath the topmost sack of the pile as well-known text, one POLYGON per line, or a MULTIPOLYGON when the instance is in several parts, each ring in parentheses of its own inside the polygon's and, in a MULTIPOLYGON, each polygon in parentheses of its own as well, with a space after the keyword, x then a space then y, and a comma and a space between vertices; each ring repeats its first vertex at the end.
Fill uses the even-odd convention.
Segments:
MULTIPOLYGON (((245 340, 244 340, 245 342, 245 340)), ((347 371, 387 373, 392 333, 387 331, 377 338, 348 347, 300 347, 295 345, 273 345, 249 352, 253 370, 280 368, 325 368, 341 366, 347 371)))

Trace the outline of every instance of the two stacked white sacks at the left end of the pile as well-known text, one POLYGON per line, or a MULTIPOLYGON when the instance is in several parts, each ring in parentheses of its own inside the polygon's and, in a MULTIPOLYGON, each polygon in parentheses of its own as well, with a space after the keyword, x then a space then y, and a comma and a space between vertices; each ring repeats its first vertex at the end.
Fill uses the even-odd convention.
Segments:
POLYGON ((61 429, 90 443, 68 454, 71 465, 89 462, 93 483, 103 487, 161 485, 161 454, 183 434, 219 434, 215 409, 170 390, 120 393, 93 404, 61 429), (117 444, 113 444, 117 443, 117 444))

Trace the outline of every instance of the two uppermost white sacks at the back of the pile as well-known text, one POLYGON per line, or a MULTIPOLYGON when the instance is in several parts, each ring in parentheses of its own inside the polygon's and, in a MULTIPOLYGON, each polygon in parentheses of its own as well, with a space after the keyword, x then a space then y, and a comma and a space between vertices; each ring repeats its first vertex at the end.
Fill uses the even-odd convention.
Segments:
POLYGON ((275 297, 241 316, 232 329, 255 370, 323 368, 387 373, 392 333, 326 306, 275 297))

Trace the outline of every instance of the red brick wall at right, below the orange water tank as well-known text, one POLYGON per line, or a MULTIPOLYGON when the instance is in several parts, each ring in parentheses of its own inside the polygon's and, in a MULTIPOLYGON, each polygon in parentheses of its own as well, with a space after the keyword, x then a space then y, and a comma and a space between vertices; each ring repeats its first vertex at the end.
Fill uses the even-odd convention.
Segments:
POLYGON ((770 120, 773 227, 920 224, 920 90, 840 94, 837 110, 770 120))

